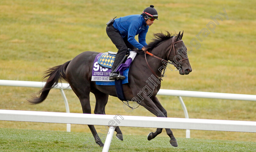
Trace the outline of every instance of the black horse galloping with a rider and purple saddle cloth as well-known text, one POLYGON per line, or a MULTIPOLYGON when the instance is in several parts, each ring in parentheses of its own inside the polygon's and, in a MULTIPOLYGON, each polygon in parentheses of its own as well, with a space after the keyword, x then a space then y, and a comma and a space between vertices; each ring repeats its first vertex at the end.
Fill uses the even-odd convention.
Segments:
MULTIPOLYGON (((126 100, 135 101, 144 106, 157 117, 167 117, 167 112, 158 101, 156 94, 161 86, 161 77, 166 69, 167 63, 173 64, 181 75, 189 74, 192 69, 187 58, 187 50, 183 43, 182 34, 171 35, 154 34, 155 38, 147 47, 148 52, 140 52, 133 60, 129 74, 129 83, 123 84, 123 92, 126 100), (147 54, 147 55, 146 55, 147 54), (169 60, 169 61, 168 61, 169 60), (162 67, 161 70, 159 70, 162 67), (149 82, 147 79, 150 78, 149 82), (148 87, 145 87, 148 86, 148 87)), ((46 71, 44 79, 48 77, 44 88, 38 96, 34 95, 28 101, 32 104, 43 102, 49 91, 61 80, 67 81, 76 96, 79 98, 83 113, 91 113, 90 92, 95 95, 96 105, 95 114, 105 114, 105 106, 108 102, 108 96, 117 96, 115 86, 96 85, 91 81, 92 68, 95 56, 98 52, 83 52, 71 61, 62 65, 55 66, 46 71)), ((93 134, 95 142, 99 146, 104 144, 96 137, 97 131, 93 125, 88 125, 93 134)), ((123 140, 123 134, 119 127, 116 127, 116 136, 123 140)), ((162 128, 157 128, 156 132, 148 135, 148 140, 155 138, 162 132, 162 128)), ((170 144, 177 147, 177 141, 170 129, 166 128, 167 135, 171 138, 170 144)))

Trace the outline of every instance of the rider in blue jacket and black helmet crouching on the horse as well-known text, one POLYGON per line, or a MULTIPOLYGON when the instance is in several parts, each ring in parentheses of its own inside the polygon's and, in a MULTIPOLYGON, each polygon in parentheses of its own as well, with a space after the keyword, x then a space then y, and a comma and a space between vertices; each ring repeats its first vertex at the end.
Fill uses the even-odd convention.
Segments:
POLYGON ((116 70, 126 56, 128 48, 146 50, 146 34, 155 19, 158 19, 157 11, 153 5, 150 5, 150 7, 144 9, 141 15, 128 15, 115 20, 112 19, 107 23, 106 32, 108 37, 118 49, 111 68, 110 80, 125 79, 125 76, 120 75, 116 70), (135 35, 138 35, 139 42, 134 38, 135 35))

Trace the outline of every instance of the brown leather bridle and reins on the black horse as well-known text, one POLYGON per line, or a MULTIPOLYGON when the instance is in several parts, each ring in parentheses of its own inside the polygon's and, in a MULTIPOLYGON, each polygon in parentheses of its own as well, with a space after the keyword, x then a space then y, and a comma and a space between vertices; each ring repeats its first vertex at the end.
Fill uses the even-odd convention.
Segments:
MULTIPOLYGON (((174 36, 174 37, 175 37, 175 36, 174 36)), ((172 44, 171 44, 171 48, 170 48, 170 50, 169 50, 167 59, 168 59, 168 57, 169 57, 169 55, 170 55, 170 53, 171 53, 171 51, 172 51, 172 48, 173 48, 174 55, 175 55, 174 57, 177 56, 177 55, 176 55, 176 51, 175 51, 174 44, 176 44, 176 43, 178 43, 178 42, 183 42, 183 40, 174 42, 174 37, 172 37, 172 44)), ((179 63, 181 63, 182 61, 188 59, 188 57, 187 57, 187 58, 184 58, 184 59, 181 59, 180 62, 177 62, 176 59, 175 59, 176 63, 174 63, 174 62, 172 62, 172 61, 167 61, 167 60, 162 59, 162 58, 160 58, 160 57, 158 57, 158 56, 155 56, 154 54, 152 54, 152 53, 150 53, 150 52, 148 52, 148 51, 144 51, 144 52, 145 52, 145 60, 146 60, 146 63, 147 63, 147 65, 148 65, 149 69, 151 70, 151 72, 152 72, 158 79, 161 79, 161 80, 162 80, 162 77, 164 77, 165 70, 163 71, 163 74, 161 73, 161 76, 159 77, 159 76, 153 71, 153 69, 149 66, 148 61, 147 61, 147 58, 146 58, 146 54, 148 54, 148 55, 150 55, 150 56, 153 56, 153 57, 155 57, 155 58, 161 60, 162 62, 166 62, 166 63, 172 64, 173 66, 175 66, 175 67, 177 68, 175 71, 179 71, 179 70, 181 69, 181 65, 180 65, 179 63)))

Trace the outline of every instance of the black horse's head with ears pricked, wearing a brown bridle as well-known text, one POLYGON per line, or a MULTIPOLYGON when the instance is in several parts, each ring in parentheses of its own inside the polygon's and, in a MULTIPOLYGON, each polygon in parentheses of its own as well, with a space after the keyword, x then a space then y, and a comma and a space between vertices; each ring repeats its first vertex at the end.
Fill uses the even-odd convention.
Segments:
POLYGON ((172 44, 168 52, 168 60, 180 71, 181 75, 189 74, 192 71, 188 57, 187 48, 181 40, 183 32, 175 37, 172 37, 172 44))

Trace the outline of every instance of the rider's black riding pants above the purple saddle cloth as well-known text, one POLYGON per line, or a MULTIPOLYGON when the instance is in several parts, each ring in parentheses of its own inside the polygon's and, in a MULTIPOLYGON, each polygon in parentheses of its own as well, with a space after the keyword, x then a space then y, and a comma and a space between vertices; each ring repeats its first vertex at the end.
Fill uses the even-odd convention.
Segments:
POLYGON ((119 33, 117 29, 114 28, 113 25, 107 26, 106 32, 111 41, 116 45, 118 49, 116 53, 116 58, 112 66, 112 70, 116 69, 119 63, 122 61, 123 57, 126 55, 126 52, 129 49, 136 49, 130 42, 127 40, 127 36, 125 38, 119 33))

